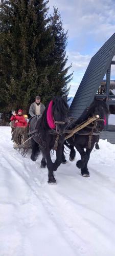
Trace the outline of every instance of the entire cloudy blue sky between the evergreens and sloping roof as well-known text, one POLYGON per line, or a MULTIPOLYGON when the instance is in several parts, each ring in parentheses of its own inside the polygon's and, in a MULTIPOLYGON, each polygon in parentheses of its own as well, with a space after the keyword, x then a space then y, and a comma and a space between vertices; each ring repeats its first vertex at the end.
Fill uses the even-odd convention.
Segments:
POLYGON ((74 96, 90 58, 115 32, 115 0, 50 0, 59 9, 68 30, 68 65, 73 62, 74 78, 69 96, 74 96))

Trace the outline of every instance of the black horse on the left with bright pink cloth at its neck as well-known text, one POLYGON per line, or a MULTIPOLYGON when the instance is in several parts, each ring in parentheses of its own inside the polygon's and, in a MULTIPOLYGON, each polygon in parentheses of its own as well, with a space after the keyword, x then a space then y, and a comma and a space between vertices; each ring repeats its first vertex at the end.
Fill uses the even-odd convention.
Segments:
POLYGON ((32 155, 31 159, 36 161, 40 148, 42 150, 43 158, 41 160, 41 167, 48 167, 48 182, 56 183, 53 172, 57 170, 61 164, 62 146, 64 143, 64 131, 66 127, 66 116, 68 112, 68 105, 63 97, 55 97, 50 104, 45 108, 45 111, 40 119, 37 116, 30 121, 30 134, 32 155), (52 121, 55 128, 51 129, 48 124, 49 106, 52 103, 52 121), (56 150, 56 160, 53 163, 50 152, 54 148, 56 150), (45 162, 45 159, 47 163, 45 162))

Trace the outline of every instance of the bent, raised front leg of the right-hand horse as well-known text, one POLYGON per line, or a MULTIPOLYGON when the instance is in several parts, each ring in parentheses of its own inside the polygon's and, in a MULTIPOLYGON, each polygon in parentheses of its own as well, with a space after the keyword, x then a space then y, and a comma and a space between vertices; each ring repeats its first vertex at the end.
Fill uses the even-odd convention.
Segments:
POLYGON ((78 152, 80 153, 80 155, 81 155, 81 160, 78 160, 77 163, 76 163, 76 165, 77 165, 77 167, 78 167, 79 169, 82 169, 82 168, 84 168, 85 163, 86 163, 88 157, 87 157, 87 155, 86 155, 86 153, 85 153, 85 151, 84 151, 84 148, 82 148, 82 146, 80 146, 80 145, 77 144, 77 145, 76 145, 76 149, 77 149, 77 151, 78 151, 78 152))

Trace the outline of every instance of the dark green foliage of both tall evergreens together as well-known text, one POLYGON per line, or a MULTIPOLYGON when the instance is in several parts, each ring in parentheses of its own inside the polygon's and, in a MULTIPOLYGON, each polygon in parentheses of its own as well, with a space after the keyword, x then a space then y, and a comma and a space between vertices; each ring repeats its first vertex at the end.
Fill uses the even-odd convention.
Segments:
POLYGON ((67 33, 48 1, 3 0, 0 4, 0 110, 29 109, 36 95, 46 103, 66 95, 67 33))

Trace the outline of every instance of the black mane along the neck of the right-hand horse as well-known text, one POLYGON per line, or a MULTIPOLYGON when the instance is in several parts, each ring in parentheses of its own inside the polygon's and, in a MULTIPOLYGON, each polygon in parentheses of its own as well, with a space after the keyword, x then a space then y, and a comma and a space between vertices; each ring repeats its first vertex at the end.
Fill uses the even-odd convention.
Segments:
POLYGON ((80 124, 87 120, 90 116, 93 115, 93 112, 95 111, 95 108, 99 108, 100 106, 103 107, 105 114, 109 114, 109 110, 107 108, 107 104, 104 100, 94 99, 93 102, 83 111, 82 115, 73 123, 73 127, 75 125, 80 124))

